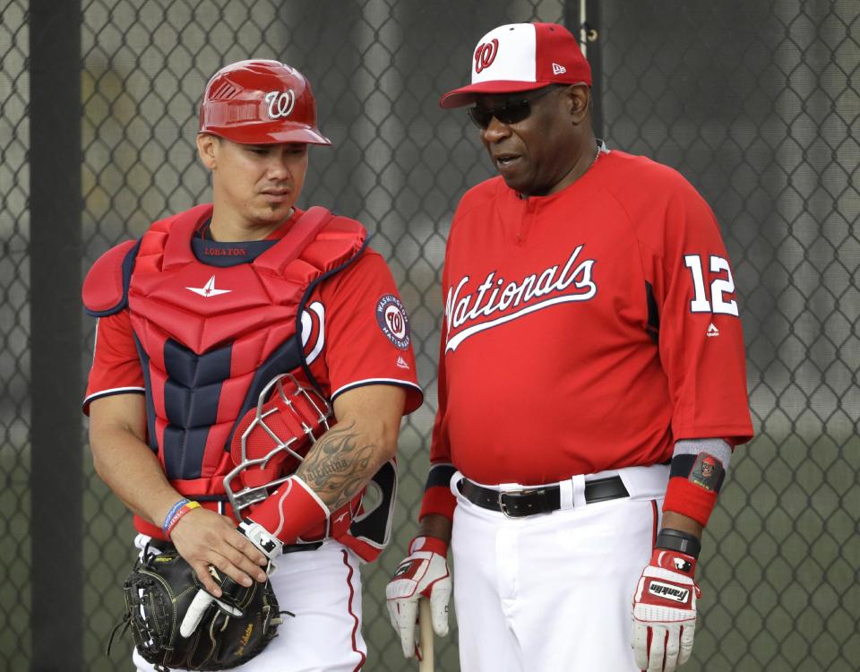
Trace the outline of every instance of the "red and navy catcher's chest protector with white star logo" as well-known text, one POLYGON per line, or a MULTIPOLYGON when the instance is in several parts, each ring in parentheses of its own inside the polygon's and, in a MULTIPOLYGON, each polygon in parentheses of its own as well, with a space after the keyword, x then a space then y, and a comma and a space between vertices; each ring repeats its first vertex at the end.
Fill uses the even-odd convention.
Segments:
POLYGON ((357 257, 366 237, 357 221, 314 208, 253 262, 210 266, 194 256, 191 240, 211 211, 202 205, 156 222, 133 266, 134 250, 124 264, 133 269, 127 302, 150 445, 185 495, 223 493, 237 418, 265 383, 302 365, 305 300, 357 257))

